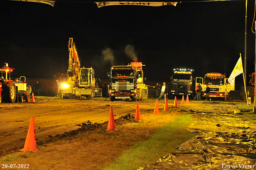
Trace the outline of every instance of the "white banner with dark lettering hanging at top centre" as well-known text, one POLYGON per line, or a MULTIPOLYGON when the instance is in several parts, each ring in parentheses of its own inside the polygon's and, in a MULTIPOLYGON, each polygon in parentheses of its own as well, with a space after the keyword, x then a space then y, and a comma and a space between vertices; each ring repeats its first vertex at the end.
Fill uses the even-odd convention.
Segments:
POLYGON ((142 6, 164 6, 164 5, 173 5, 176 6, 178 2, 95 2, 98 5, 98 8, 102 6, 110 5, 142 5, 142 6))

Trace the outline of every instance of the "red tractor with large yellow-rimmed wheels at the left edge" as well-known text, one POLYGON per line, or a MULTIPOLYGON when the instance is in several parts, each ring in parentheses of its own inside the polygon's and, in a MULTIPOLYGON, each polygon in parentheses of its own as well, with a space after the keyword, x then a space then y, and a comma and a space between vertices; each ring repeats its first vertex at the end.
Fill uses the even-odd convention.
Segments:
POLYGON ((10 80, 10 72, 14 68, 8 67, 8 63, 0 69, 1 78, 0 78, 0 103, 14 103, 14 102, 29 102, 30 94, 26 92, 26 83, 15 83, 13 80, 10 80), (4 76, 3 74, 6 73, 4 76), (9 73, 9 80, 8 80, 9 73))

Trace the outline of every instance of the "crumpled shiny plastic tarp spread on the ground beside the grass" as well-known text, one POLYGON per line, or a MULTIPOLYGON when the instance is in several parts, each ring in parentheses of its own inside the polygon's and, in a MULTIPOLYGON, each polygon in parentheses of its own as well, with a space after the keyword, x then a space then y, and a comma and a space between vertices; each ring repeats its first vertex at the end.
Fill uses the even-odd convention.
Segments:
POLYGON ((228 112, 191 112, 196 136, 139 170, 256 169, 256 123, 228 112))

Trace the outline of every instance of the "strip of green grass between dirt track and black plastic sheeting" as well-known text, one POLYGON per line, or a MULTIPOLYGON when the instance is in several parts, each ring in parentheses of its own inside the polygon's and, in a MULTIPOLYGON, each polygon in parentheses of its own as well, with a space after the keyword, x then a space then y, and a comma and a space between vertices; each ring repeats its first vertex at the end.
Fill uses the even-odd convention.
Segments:
POLYGON ((192 122, 190 114, 180 116, 148 140, 123 152, 110 166, 100 168, 100 170, 135 170, 156 162, 167 154, 176 152, 177 146, 195 136, 186 130, 192 122))

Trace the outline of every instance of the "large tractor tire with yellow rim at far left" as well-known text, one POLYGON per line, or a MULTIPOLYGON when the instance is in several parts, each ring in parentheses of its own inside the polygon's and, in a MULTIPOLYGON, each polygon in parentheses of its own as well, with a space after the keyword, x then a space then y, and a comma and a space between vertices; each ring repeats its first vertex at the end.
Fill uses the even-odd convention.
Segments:
POLYGON ((14 103, 16 100, 16 86, 14 82, 10 82, 7 84, 4 84, 4 88, 3 88, 3 102, 6 103, 14 103))

